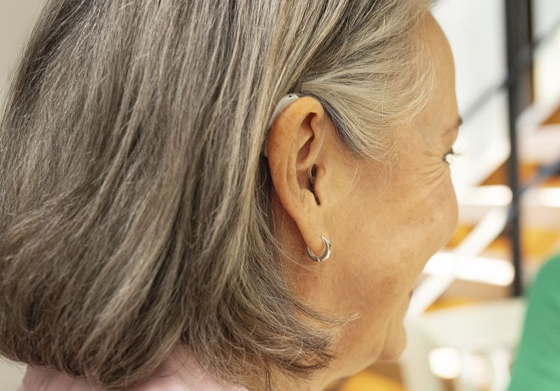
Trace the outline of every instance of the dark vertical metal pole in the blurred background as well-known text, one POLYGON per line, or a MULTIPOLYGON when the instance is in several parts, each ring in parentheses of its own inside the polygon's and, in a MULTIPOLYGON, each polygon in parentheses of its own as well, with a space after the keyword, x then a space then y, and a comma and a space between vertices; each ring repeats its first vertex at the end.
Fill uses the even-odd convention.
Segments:
MULTIPOLYGON (((531 44, 530 0, 504 0, 507 34, 508 106, 511 153, 507 159, 507 176, 512 190, 511 220, 508 233, 512 248, 515 276, 512 295, 523 293, 521 262, 521 229, 519 221, 519 159, 517 155, 517 117, 531 101, 531 67, 523 64, 520 51, 531 44)), ((532 64, 532 61, 528 62, 532 64)))

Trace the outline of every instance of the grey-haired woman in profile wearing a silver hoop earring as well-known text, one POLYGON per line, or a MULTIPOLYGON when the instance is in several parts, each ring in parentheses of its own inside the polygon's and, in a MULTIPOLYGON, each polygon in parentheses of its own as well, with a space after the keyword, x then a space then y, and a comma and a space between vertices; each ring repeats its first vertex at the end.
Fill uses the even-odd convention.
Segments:
POLYGON ((48 3, 0 133, 22 390, 321 390, 399 357, 457 222, 429 6, 48 3))

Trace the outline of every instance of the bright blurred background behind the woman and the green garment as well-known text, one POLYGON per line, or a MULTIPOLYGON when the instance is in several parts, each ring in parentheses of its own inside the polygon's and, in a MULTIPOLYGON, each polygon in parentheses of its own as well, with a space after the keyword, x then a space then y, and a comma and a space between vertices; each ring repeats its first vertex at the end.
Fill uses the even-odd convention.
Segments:
MULTIPOLYGON (((0 4, 0 102, 43 3, 0 4)), ((399 362, 329 391, 507 390, 527 288, 560 254, 560 1, 437 0, 433 13, 464 120, 451 164, 460 223, 414 290, 399 362)), ((0 388, 23 371, 0 360, 0 388)))

